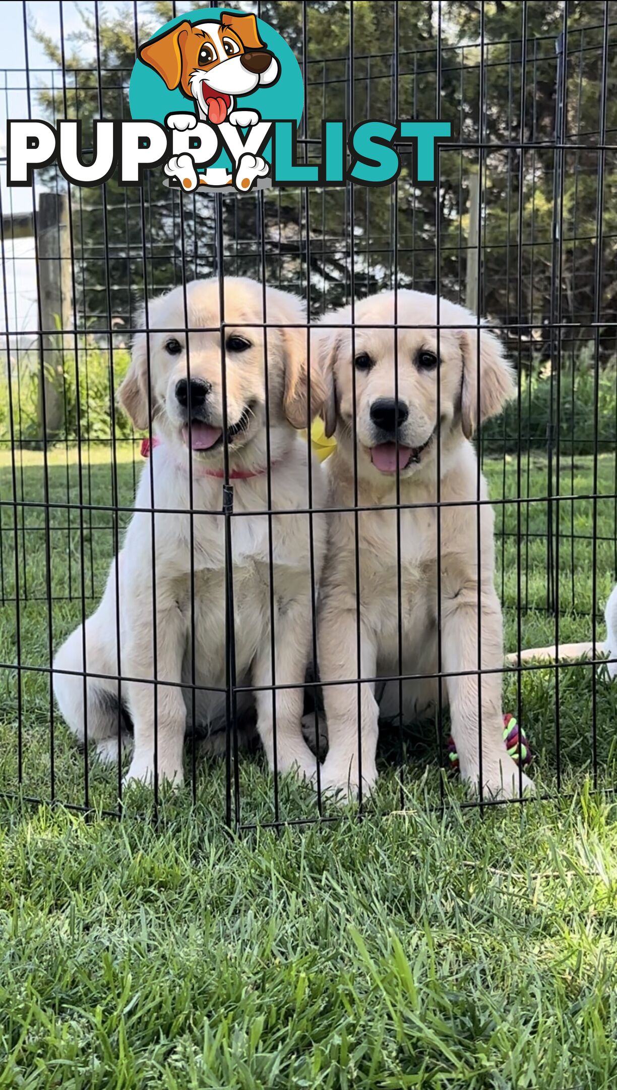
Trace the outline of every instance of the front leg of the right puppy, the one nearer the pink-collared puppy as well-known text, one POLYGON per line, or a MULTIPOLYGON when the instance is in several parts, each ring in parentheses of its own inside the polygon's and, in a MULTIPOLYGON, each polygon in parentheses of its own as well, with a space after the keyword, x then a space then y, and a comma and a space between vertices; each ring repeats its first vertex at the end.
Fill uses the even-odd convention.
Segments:
MULTIPOLYGON (((358 675, 357 614, 323 603, 319 620, 319 669, 322 682, 343 681, 358 675)), ((377 643, 366 625, 360 626, 361 677, 374 677, 377 643)), ((343 798, 358 794, 361 761, 362 794, 377 780, 375 753, 379 732, 379 707, 374 685, 323 685, 323 705, 328 722, 329 749, 321 774, 324 791, 341 791, 343 798), (358 735, 359 731, 359 735, 358 735), (359 758, 358 758, 359 752, 359 758)))

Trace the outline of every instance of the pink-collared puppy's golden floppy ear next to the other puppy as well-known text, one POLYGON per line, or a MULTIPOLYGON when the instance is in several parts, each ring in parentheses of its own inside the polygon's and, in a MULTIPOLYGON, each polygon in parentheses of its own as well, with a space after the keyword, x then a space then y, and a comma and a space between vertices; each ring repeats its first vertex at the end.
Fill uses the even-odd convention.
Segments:
MULTIPOLYGON (((304 304, 286 291, 277 288, 268 289, 268 320, 282 326, 277 330, 283 349, 283 412, 292 427, 308 427, 310 422, 321 411, 325 390, 319 371, 318 360, 309 353, 309 330, 306 328, 306 311, 304 304), (293 323, 289 328, 284 323, 293 323), (310 386, 310 407, 308 392, 310 386)), ((271 335, 269 335, 271 336, 271 335)))

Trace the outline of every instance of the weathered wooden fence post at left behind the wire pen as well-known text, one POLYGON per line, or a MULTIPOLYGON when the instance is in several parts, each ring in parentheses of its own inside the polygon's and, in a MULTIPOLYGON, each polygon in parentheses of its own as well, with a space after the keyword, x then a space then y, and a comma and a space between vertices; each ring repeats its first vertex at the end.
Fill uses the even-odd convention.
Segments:
POLYGON ((73 348, 73 338, 59 332, 59 329, 67 331, 73 327, 69 198, 65 193, 39 195, 37 228, 42 330, 38 419, 41 438, 54 439, 64 423, 64 358, 73 348))

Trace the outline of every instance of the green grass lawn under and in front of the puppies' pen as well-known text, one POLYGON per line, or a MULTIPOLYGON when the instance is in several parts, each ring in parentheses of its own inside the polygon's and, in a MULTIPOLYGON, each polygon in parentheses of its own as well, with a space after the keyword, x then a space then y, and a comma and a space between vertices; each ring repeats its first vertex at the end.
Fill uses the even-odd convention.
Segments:
MULTIPOLYGON (((591 638, 594 518, 596 608, 616 573, 614 458, 600 460, 595 505, 583 498, 591 460, 564 461, 552 491, 578 498, 552 511, 542 456, 520 473, 515 459, 485 469, 495 500, 519 495, 518 476, 529 497, 520 516, 519 505, 496 504, 508 650, 519 604, 523 645, 555 642, 550 518, 560 534, 559 640, 591 638)), ((81 487, 87 505, 111 505, 118 491, 129 507, 132 450, 121 447, 113 469, 109 449, 92 448, 81 486, 74 452, 66 464, 57 451, 47 476, 55 505, 75 504, 81 487)), ((86 782, 58 718, 50 730, 40 669, 81 618, 82 594, 88 611, 100 594, 114 530, 110 511, 62 506, 46 526, 38 455, 23 456, 15 484, 4 457, 0 1087, 614 1086, 617 687, 594 681, 589 666, 505 678, 504 706, 521 712, 540 787, 523 807, 465 808, 440 773, 436 731, 414 729, 385 738, 361 822, 347 813, 227 835, 225 770, 214 761, 197 764, 195 801, 189 787, 162 798, 158 823, 146 791, 132 795, 122 822, 21 806, 10 796, 118 806, 118 773, 90 759, 86 782)), ((245 824, 273 820, 260 758, 240 761, 238 788, 245 824)), ((277 812, 314 816, 314 797, 283 782, 277 812)))

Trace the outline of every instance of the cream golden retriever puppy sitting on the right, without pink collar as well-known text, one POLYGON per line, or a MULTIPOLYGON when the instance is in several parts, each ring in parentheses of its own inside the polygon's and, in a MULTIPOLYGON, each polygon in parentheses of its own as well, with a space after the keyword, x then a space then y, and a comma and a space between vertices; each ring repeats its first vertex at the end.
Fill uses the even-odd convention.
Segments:
MULTIPOLYGON (((446 300, 437 338, 433 295, 398 291, 396 341, 394 329, 380 328, 395 323, 393 292, 358 302, 354 320, 353 339, 349 306, 328 315, 335 328, 320 329, 316 344, 329 384, 325 431, 337 441, 325 463, 334 510, 318 619, 329 736, 321 783, 344 795, 356 794, 360 779, 363 791, 375 783, 374 679, 398 675, 400 623, 403 674, 417 676, 403 682, 404 722, 436 704, 430 675, 440 669, 441 628, 443 702, 449 701, 461 775, 476 787, 481 780, 485 792, 511 796, 519 771, 503 743, 493 512, 469 441, 510 396, 510 371, 496 337, 469 328, 474 318, 446 300), (349 510, 356 504, 358 572, 349 510), (482 673, 479 686, 479 670, 495 673, 482 673), (359 724, 358 686, 328 685, 358 677, 367 679, 359 724)), ((391 681, 381 714, 395 712, 398 682, 391 681)), ((530 786, 526 775, 522 786, 530 786)))

